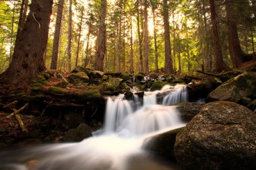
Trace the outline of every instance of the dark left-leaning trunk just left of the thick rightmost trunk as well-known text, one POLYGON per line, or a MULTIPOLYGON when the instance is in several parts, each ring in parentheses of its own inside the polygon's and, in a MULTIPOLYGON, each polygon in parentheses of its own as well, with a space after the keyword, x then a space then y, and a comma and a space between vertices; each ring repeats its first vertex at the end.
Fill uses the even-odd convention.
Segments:
POLYGON ((222 56, 222 46, 220 45, 217 14, 216 14, 214 0, 209 0, 209 1, 210 1, 210 11, 211 11, 211 21, 212 21, 213 42, 214 42, 214 50, 215 50, 216 71, 223 71, 223 70, 227 70, 228 66, 224 63, 223 56, 222 56))

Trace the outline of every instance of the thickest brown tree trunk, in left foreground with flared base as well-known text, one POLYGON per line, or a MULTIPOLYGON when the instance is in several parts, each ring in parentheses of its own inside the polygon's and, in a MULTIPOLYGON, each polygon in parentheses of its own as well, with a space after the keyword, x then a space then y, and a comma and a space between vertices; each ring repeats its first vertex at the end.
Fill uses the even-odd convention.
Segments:
POLYGON ((52 0, 32 1, 9 68, 0 75, 1 83, 8 83, 28 89, 30 82, 44 71, 44 50, 46 47, 52 0))

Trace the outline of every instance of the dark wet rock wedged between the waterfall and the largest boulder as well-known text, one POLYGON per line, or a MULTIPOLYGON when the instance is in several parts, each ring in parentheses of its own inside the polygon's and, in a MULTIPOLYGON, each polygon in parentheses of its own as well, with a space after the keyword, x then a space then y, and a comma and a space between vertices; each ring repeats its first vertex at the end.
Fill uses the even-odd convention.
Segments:
POLYGON ((197 115, 204 103, 197 102, 185 102, 176 104, 176 109, 179 111, 181 119, 185 122, 189 122, 197 115))

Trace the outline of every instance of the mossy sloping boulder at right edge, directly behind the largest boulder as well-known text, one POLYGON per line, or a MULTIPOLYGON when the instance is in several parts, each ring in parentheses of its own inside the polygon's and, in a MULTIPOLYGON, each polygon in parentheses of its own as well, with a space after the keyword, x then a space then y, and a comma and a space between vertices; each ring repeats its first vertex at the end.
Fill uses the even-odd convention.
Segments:
POLYGON ((249 73, 238 75, 217 87, 207 96, 207 101, 226 100, 238 102, 242 97, 256 93, 256 76, 249 73))

